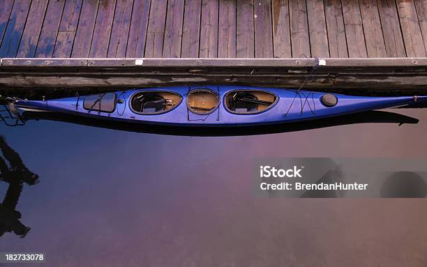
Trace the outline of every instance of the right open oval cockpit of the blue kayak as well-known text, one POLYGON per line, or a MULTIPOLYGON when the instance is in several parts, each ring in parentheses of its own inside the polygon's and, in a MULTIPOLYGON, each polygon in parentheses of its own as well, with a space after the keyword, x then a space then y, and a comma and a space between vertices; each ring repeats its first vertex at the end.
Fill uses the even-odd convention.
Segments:
POLYGON ((273 107, 278 100, 274 93, 257 90, 236 90, 225 96, 229 112, 236 114, 255 114, 273 107))

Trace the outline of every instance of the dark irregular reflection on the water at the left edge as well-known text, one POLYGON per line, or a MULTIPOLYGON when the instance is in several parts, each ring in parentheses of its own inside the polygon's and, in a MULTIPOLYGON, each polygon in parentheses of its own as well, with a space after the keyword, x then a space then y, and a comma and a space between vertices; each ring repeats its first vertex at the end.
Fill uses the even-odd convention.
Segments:
POLYGON ((8 190, 0 204, 0 236, 9 232, 24 238, 30 227, 20 222, 21 213, 16 211, 18 200, 20 199, 24 183, 36 185, 38 175, 33 174, 22 162, 20 155, 10 148, 6 139, 0 135, 0 150, 3 157, 0 157, 0 181, 8 183, 8 190))

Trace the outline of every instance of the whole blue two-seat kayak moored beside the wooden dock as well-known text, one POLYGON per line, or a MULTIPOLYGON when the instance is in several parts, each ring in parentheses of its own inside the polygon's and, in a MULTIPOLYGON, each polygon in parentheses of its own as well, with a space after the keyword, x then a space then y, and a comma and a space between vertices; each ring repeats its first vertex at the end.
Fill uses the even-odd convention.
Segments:
POLYGON ((135 89, 57 100, 16 100, 22 111, 174 126, 268 125, 425 102, 427 96, 362 97, 249 86, 135 89))

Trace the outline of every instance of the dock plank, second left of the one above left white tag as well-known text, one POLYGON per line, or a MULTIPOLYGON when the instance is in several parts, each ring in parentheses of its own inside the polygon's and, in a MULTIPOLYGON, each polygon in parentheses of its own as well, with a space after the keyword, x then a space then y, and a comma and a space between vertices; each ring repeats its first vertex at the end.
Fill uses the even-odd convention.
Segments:
POLYGON ((107 57, 116 0, 100 0, 89 57, 107 57))

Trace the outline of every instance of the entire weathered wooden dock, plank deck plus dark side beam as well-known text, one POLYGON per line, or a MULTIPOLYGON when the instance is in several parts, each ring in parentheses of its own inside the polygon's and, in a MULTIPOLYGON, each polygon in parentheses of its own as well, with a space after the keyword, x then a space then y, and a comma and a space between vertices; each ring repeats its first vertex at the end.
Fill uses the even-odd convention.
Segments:
POLYGON ((2 5, 1 86, 297 87, 315 63, 320 67, 307 84, 311 88, 427 84, 424 0, 5 0, 2 5))

